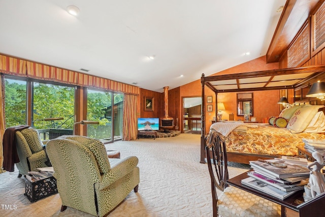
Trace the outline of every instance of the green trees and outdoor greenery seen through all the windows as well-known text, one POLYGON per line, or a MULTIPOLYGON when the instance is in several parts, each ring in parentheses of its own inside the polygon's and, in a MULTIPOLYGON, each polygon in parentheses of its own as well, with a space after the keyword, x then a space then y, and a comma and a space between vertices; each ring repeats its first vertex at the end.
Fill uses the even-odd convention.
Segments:
MULTIPOLYGON (((26 124, 26 82, 6 79, 6 127, 26 124)), ((87 126, 89 137, 111 138, 112 92, 88 91, 87 120, 99 121, 100 125, 87 126)), ((114 94, 114 104, 123 102, 123 94, 114 94)), ((33 120, 36 129, 73 129, 75 90, 73 87, 34 83, 33 120), (44 121, 44 118, 63 117, 63 120, 44 121)), ((117 113, 117 107, 113 106, 117 113)), ((118 111, 120 112, 120 110, 118 111)), ((116 115, 116 114, 115 114, 116 115)), ((116 115, 116 118, 118 116, 116 115)), ((116 119, 117 120, 117 119, 116 119)), ((115 121, 116 121, 115 120, 115 121)), ((116 123, 122 124, 121 120, 116 123)), ((116 129, 116 133, 117 129, 116 129)))

